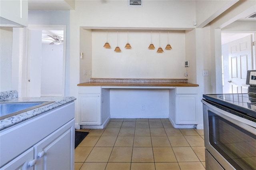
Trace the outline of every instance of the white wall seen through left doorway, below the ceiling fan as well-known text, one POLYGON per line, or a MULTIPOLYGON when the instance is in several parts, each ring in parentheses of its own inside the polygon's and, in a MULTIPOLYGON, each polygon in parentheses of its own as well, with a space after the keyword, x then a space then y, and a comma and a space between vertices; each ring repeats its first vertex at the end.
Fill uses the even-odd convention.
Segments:
POLYGON ((62 96, 63 44, 42 44, 41 96, 62 96))

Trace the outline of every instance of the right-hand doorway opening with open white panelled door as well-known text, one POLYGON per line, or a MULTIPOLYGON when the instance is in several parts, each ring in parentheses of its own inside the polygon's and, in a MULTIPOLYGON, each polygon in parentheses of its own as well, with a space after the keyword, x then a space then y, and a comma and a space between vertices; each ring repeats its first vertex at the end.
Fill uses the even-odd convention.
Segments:
MULTIPOLYGON (((233 36, 233 39, 222 43, 223 93, 247 93, 247 70, 255 69, 255 52, 252 48, 254 34, 230 35, 233 36)), ((223 37, 227 38, 227 34, 223 37)), ((222 42, 224 41, 227 40, 222 42)))

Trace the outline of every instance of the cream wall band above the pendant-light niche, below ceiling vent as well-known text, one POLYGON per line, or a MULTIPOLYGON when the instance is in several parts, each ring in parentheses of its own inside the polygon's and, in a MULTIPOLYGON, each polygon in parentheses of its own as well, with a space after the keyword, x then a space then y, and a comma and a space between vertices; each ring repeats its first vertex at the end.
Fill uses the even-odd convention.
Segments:
POLYGON ((76 20, 80 26, 114 28, 195 28, 194 0, 144 0, 142 7, 129 7, 126 0, 78 0, 76 20))

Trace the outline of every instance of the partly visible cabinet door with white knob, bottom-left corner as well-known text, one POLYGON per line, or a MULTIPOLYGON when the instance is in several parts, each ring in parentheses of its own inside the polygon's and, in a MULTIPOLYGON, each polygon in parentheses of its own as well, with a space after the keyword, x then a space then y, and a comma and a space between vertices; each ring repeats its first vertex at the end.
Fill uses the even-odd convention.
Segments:
POLYGON ((35 164, 34 147, 32 147, 0 168, 0 170, 33 170, 35 164))

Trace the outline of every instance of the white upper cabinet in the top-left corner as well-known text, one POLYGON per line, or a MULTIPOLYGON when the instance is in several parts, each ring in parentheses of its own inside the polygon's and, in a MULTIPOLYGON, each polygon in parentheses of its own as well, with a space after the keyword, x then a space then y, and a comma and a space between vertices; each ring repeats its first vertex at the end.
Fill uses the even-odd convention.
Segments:
POLYGON ((0 26, 28 26, 28 0, 1 0, 0 19, 0 26))

